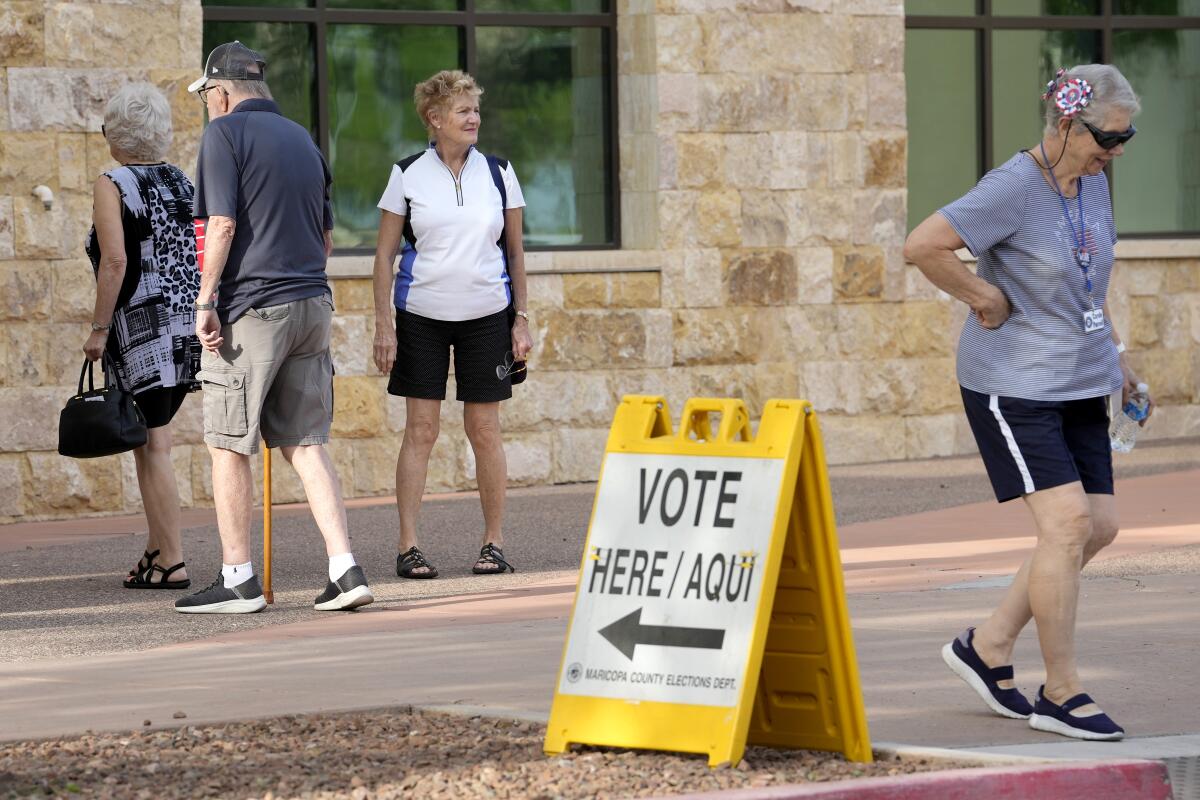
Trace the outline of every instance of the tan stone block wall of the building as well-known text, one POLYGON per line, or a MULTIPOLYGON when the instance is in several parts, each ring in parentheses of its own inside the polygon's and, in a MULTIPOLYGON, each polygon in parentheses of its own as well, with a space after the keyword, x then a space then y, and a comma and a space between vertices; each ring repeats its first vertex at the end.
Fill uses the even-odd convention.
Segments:
MULTIPOLYGON (((692 396, 742 397, 755 415, 808 398, 833 463, 973 452, 954 380, 965 309, 901 255, 901 2, 620 0, 618 13, 623 249, 528 258, 539 350, 502 407, 511 482, 594 480, 625 393, 665 395, 676 415, 692 396)), ((55 416, 91 313, 82 241, 109 166, 101 109, 124 80, 162 86, 172 158, 191 172, 199 42, 196 0, 0 7, 0 519, 139 509, 132 458, 59 457, 55 416)), ((1122 260, 1111 311, 1164 404, 1148 433, 1196 435, 1200 251, 1139 252, 1152 258, 1122 260)), ((368 273, 368 259, 331 266, 330 449, 348 497, 394 491, 404 428, 370 361, 368 273)), ((188 505, 211 504, 200 428, 192 397, 174 455, 188 505)), ((457 403, 442 431, 428 488, 469 488, 457 403)), ((300 499, 275 463, 276 500, 300 499)))

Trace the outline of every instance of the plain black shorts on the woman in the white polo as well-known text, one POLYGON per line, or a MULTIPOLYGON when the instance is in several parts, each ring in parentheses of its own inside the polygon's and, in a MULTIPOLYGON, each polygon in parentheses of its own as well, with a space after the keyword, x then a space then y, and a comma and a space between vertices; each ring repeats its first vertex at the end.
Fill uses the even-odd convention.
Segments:
POLYGON ((396 311, 396 363, 388 393, 422 399, 445 399, 454 348, 457 399, 496 403, 512 397, 512 379, 496 377, 496 367, 512 350, 508 311, 479 319, 444 321, 396 311))

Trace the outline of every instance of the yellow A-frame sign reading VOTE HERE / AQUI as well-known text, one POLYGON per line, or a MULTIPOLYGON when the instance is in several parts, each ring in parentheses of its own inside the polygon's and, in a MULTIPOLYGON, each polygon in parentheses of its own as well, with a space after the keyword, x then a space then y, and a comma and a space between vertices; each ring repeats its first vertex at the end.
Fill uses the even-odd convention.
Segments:
POLYGON ((617 409, 546 728, 571 742, 706 753, 746 742, 871 760, 812 407, 617 409), (720 416, 715 428, 713 415, 720 416))

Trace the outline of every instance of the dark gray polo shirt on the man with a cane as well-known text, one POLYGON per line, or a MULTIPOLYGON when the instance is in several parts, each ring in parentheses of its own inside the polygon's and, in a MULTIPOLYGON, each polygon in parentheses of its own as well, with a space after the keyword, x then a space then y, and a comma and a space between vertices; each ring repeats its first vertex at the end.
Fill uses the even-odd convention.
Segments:
POLYGON ((217 314, 329 291, 324 233, 334 228, 329 166, 308 132, 269 100, 244 100, 209 122, 196 166, 196 217, 232 217, 217 314))

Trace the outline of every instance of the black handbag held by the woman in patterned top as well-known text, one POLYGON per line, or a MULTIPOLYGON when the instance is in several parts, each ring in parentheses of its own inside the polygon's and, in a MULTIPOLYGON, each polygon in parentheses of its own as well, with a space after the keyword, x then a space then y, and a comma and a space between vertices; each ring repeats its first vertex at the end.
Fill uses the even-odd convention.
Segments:
POLYGON ((146 420, 116 369, 104 359, 104 387, 96 389, 92 362, 79 371, 79 393, 59 414, 59 455, 71 458, 114 456, 146 443, 146 420), (83 378, 88 377, 88 391, 83 378))

